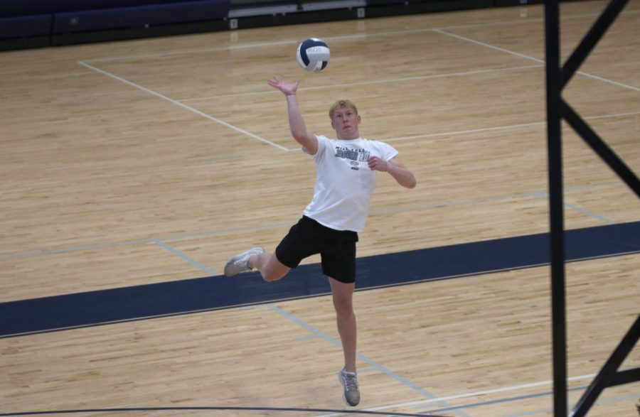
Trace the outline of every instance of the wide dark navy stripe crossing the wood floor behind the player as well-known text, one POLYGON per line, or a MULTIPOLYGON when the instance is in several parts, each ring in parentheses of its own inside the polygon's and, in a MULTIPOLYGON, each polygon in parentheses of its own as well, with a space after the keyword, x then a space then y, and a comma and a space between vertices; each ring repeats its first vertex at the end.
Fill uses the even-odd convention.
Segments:
MULTIPOLYGON (((357 291, 549 263, 547 233, 358 258, 357 291)), ((640 253, 640 222, 566 233, 567 261, 640 253)), ((319 264, 265 283, 214 276, 0 303, 0 338, 329 294, 319 264)))

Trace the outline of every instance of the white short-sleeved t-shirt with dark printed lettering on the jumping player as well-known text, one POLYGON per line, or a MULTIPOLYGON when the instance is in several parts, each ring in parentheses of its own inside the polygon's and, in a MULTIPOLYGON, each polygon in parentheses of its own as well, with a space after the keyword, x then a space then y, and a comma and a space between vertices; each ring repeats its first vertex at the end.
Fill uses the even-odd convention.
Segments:
MULTIPOLYGON (((389 161, 398 155, 393 146, 369 139, 327 139, 317 136, 317 177, 314 198, 304 215, 336 230, 362 232, 369 215, 369 202, 375 186, 375 170, 368 158, 389 161)), ((306 150, 303 148, 303 151, 306 150)))

